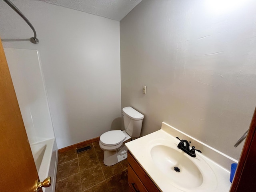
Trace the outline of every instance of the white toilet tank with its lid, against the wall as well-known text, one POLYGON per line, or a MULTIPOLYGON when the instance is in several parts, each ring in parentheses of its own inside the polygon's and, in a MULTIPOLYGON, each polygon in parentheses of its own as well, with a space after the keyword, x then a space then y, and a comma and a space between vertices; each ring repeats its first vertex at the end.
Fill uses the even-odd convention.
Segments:
POLYGON ((140 112, 136 111, 132 107, 124 107, 123 110, 124 116, 124 129, 131 137, 139 137, 142 121, 144 119, 144 115, 140 112))

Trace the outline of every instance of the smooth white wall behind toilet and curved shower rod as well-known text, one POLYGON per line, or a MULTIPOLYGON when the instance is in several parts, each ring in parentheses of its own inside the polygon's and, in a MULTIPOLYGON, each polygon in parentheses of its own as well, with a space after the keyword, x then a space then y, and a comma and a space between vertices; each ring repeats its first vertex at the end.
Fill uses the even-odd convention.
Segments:
POLYGON ((34 25, 33 33, 0 1, 5 48, 40 53, 58 148, 120 126, 119 22, 35 0, 12 1, 34 25))

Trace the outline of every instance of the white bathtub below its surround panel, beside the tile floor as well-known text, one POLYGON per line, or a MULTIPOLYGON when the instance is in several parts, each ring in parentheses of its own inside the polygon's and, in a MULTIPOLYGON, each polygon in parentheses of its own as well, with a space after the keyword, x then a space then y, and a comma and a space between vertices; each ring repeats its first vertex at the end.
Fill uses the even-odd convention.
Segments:
POLYGON ((58 152, 53 150, 54 140, 54 138, 46 139, 30 145, 40 181, 48 176, 52 178, 52 185, 49 188, 42 188, 43 192, 55 190, 58 152))

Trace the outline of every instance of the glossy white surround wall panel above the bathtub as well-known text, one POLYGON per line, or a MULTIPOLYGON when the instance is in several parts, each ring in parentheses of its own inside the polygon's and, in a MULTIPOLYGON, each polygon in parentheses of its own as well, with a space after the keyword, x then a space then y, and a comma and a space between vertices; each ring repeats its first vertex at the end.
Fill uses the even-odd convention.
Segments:
POLYGON ((37 50, 4 48, 30 144, 55 138, 37 50))

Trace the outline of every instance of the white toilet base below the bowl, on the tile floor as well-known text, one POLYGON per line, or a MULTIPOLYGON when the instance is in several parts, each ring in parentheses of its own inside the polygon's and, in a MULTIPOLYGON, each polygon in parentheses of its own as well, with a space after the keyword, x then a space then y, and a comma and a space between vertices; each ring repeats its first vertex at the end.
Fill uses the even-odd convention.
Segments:
POLYGON ((104 151, 104 164, 112 166, 127 158, 127 147, 122 146, 118 151, 104 151))

